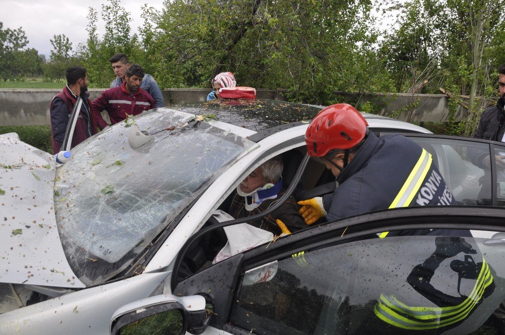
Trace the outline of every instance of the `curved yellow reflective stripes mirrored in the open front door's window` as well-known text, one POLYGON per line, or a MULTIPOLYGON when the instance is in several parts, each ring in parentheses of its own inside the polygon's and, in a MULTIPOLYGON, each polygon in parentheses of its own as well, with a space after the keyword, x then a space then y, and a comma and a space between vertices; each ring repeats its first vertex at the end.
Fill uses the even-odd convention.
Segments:
POLYGON ((397 300, 381 294, 375 305, 374 313, 382 321, 395 327, 410 330, 434 329, 444 327, 466 318, 481 301, 485 289, 491 285, 493 277, 489 265, 483 260, 472 293, 465 301, 448 307, 410 307, 397 300))

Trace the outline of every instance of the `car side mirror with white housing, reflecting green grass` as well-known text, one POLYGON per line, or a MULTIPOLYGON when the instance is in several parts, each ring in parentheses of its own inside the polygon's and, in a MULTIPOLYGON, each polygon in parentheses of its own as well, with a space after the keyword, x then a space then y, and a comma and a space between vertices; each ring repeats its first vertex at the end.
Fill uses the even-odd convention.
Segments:
POLYGON ((112 335, 200 334, 210 324, 206 301, 202 296, 149 297, 118 309, 111 321, 112 335))

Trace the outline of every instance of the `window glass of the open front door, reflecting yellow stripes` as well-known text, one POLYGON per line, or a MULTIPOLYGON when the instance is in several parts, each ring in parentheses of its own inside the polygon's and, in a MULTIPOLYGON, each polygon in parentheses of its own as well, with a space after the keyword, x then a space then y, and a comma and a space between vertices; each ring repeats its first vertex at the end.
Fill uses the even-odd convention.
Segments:
POLYGON ((504 261, 503 245, 458 236, 300 251, 243 273, 229 322, 259 334, 494 330, 484 322, 505 316, 504 261))

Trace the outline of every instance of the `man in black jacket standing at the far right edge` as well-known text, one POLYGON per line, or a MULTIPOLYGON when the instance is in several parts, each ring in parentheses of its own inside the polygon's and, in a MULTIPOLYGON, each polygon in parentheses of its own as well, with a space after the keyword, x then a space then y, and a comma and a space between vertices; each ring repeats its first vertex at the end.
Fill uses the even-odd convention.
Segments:
MULTIPOLYGON (((505 64, 498 67, 498 89, 500 98, 496 102, 496 106, 489 107, 483 111, 480 117, 479 126, 475 131, 473 137, 483 138, 486 140, 505 142, 505 64)), ((472 162, 479 166, 489 166, 489 155, 487 152, 472 151, 470 154, 472 162)), ((496 164, 505 167, 503 159, 505 156, 496 155, 496 164)))

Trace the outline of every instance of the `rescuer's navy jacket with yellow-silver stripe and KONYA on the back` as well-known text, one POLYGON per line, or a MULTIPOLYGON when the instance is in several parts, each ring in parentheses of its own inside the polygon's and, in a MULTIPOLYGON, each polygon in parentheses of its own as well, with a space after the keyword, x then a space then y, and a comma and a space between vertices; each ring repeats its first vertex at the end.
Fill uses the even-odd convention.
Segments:
POLYGON ((401 135, 370 133, 323 196, 328 221, 374 210, 455 204, 431 154, 401 135))

